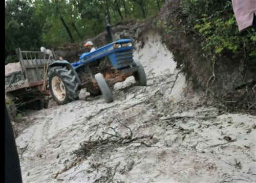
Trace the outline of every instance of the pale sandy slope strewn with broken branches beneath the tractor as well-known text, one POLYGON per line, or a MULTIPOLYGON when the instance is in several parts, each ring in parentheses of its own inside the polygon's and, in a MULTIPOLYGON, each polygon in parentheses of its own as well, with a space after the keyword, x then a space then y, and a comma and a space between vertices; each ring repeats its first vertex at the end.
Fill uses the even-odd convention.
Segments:
POLYGON ((16 138, 24 182, 255 182, 256 117, 202 107, 156 32, 136 47, 147 86, 131 77, 113 103, 83 91, 28 112, 16 138))

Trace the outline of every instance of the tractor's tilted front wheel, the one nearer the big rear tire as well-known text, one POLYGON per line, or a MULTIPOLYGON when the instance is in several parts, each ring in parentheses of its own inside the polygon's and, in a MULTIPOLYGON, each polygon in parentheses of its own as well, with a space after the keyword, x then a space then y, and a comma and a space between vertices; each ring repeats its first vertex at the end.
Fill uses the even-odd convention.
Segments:
POLYGON ((110 88, 109 88, 108 84, 106 84, 106 81, 105 81, 104 77, 102 76, 102 74, 101 73, 96 74, 95 79, 99 85, 102 95, 105 98, 106 103, 113 102, 114 100, 113 100, 110 88))

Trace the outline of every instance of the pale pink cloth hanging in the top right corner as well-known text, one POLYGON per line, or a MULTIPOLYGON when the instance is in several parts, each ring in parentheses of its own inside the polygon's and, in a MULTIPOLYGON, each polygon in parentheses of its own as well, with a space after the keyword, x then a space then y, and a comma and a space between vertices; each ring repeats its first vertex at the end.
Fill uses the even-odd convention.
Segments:
POLYGON ((232 0, 232 6, 239 31, 252 26, 253 15, 256 15, 256 0, 232 0))

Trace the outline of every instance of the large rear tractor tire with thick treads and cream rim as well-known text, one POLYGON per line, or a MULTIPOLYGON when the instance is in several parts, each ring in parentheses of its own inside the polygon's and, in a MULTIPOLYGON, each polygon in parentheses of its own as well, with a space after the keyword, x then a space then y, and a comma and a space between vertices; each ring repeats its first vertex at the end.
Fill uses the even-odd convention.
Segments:
POLYGON ((53 67, 49 72, 49 87, 53 100, 58 105, 67 104, 78 99, 79 82, 72 70, 66 67, 53 67))

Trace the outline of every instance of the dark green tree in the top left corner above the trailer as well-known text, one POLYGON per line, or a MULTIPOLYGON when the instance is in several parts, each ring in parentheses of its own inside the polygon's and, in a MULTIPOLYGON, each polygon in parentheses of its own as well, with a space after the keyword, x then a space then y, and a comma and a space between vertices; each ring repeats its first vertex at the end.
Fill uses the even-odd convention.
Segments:
POLYGON ((39 22, 34 19, 34 9, 27 1, 5 2, 5 59, 6 64, 17 61, 15 49, 35 50, 41 45, 39 22))

